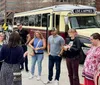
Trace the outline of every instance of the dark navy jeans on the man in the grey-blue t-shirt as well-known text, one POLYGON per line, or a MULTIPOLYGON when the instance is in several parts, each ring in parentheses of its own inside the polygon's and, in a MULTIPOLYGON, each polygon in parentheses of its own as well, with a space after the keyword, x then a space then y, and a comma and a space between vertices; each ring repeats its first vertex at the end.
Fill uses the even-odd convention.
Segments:
POLYGON ((59 56, 49 55, 49 75, 48 75, 48 79, 50 81, 52 80, 52 76, 53 76, 53 67, 54 67, 54 64, 56 65, 55 80, 59 81, 60 71, 61 71, 61 60, 62 60, 62 58, 59 57, 59 56))

